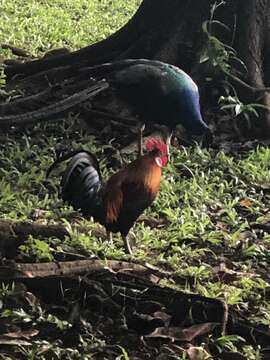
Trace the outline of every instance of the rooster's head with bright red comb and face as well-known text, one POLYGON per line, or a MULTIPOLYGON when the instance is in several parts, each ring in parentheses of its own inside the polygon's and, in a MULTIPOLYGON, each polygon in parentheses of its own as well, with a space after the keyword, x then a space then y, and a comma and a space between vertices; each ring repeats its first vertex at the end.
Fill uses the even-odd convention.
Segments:
POLYGON ((167 135, 166 138, 150 138, 146 141, 145 147, 147 152, 155 159, 156 164, 159 167, 166 166, 170 158, 170 140, 171 135, 167 135))

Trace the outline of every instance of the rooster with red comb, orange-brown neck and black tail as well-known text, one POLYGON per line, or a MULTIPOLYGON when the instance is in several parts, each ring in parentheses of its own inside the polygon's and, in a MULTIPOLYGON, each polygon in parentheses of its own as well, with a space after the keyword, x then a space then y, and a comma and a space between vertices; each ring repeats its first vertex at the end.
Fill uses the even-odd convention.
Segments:
MULTIPOLYGON (((87 151, 78 151, 65 169, 62 180, 62 198, 85 217, 92 216, 104 225, 109 239, 120 232, 125 250, 132 254, 128 233, 142 212, 154 201, 160 186, 161 168, 168 162, 170 136, 146 141, 147 153, 139 156, 104 183, 98 161, 87 151)), ((70 156, 69 156, 70 157, 70 156)), ((56 160, 56 164, 67 160, 56 160)))

